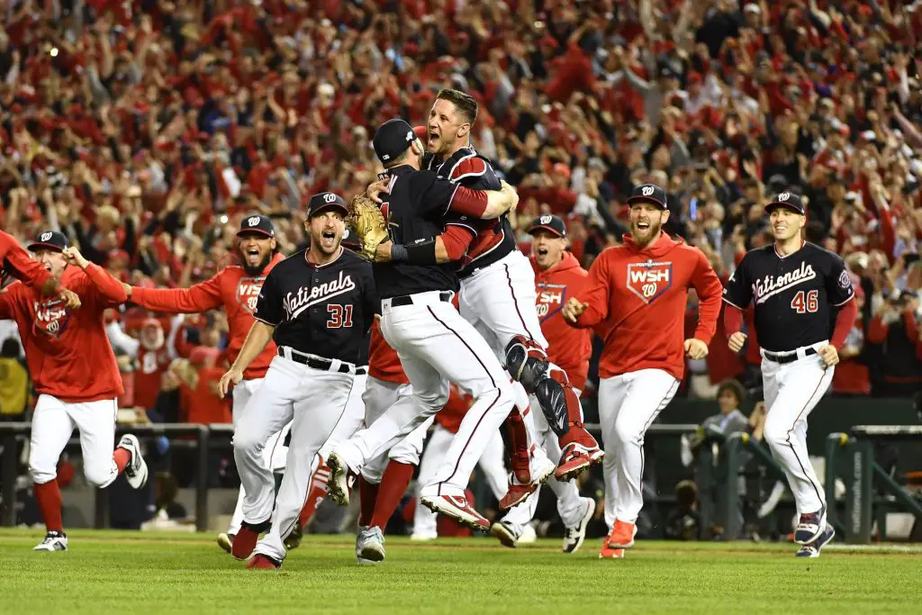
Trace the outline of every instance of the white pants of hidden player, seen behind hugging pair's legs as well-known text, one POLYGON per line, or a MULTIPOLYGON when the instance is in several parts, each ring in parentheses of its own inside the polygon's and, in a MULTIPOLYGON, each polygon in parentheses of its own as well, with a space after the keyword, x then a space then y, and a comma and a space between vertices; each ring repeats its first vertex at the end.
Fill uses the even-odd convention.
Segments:
MULTIPOLYGON (((425 485, 435 474, 438 467, 443 463, 445 451, 452 442, 455 434, 446 430, 442 425, 436 425, 429 436, 429 442, 426 443, 426 450, 422 454, 420 461, 420 478, 417 480, 418 485, 425 485)), ((490 491, 497 502, 502 500, 506 493, 506 467, 502 462, 502 437, 499 432, 493 434, 490 443, 480 455, 477 467, 483 472, 487 479, 490 491)), ((413 514, 413 536, 419 538, 437 538, 438 528, 436 524, 436 514, 420 503, 419 489, 416 493, 416 512, 413 514)), ((513 509, 514 510, 514 509, 513 509)))

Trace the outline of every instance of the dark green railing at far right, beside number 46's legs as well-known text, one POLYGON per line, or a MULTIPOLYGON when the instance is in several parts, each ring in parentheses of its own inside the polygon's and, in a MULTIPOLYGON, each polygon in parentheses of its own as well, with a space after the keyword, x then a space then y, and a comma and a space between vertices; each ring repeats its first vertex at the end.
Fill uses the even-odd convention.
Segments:
POLYGON ((919 425, 856 425, 851 434, 836 432, 826 438, 827 516, 845 541, 869 544, 875 522, 881 539, 886 539, 889 510, 914 514, 922 523, 922 503, 874 459, 874 444, 880 442, 922 442, 919 425), (845 518, 839 518, 835 479, 839 461, 845 461, 845 518), (882 492, 875 496, 875 479, 882 492))

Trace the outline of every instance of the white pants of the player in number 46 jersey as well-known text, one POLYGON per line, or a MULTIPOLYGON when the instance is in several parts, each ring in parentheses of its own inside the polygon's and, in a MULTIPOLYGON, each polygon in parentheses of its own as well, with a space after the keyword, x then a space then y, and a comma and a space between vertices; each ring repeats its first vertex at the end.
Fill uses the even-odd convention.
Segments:
MULTIPOLYGON (((818 355, 828 341, 795 350, 798 359, 778 363, 762 351, 762 385, 765 391, 765 428, 762 438, 774 460, 784 468, 798 514, 815 513, 826 505, 825 492, 807 452, 807 417, 833 382, 834 367, 818 355)), ((777 353, 791 354, 791 353, 777 353)))

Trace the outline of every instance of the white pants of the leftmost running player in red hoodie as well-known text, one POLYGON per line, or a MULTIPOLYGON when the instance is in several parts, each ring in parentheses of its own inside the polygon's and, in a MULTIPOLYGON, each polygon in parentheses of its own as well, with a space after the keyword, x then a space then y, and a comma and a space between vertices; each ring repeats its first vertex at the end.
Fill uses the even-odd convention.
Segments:
POLYGON ((83 474, 93 487, 108 487, 118 476, 115 449, 115 399, 71 404, 42 394, 35 404, 29 450, 29 473, 36 484, 57 478, 57 464, 76 427, 80 430, 83 474))

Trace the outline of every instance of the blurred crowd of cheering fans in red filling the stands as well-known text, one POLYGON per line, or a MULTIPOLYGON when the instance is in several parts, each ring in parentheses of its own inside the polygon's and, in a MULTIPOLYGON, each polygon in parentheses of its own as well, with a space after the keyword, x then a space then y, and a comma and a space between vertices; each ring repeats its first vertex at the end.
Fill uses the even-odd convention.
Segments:
MULTIPOLYGON (((727 277, 771 242, 767 199, 798 192, 808 239, 860 289, 834 394, 922 384, 918 0, 0 0, 0 16, 0 227, 24 244, 61 230, 125 282, 185 287, 233 262, 259 211, 290 254, 310 195, 375 179, 375 126, 422 124, 438 89, 463 89, 474 146, 521 195, 524 250, 550 212, 590 266, 654 182, 668 231, 727 277)), ((223 314, 111 318, 124 407, 231 422, 223 314)), ((684 394, 757 389, 750 334, 736 356, 720 332, 684 394)))

